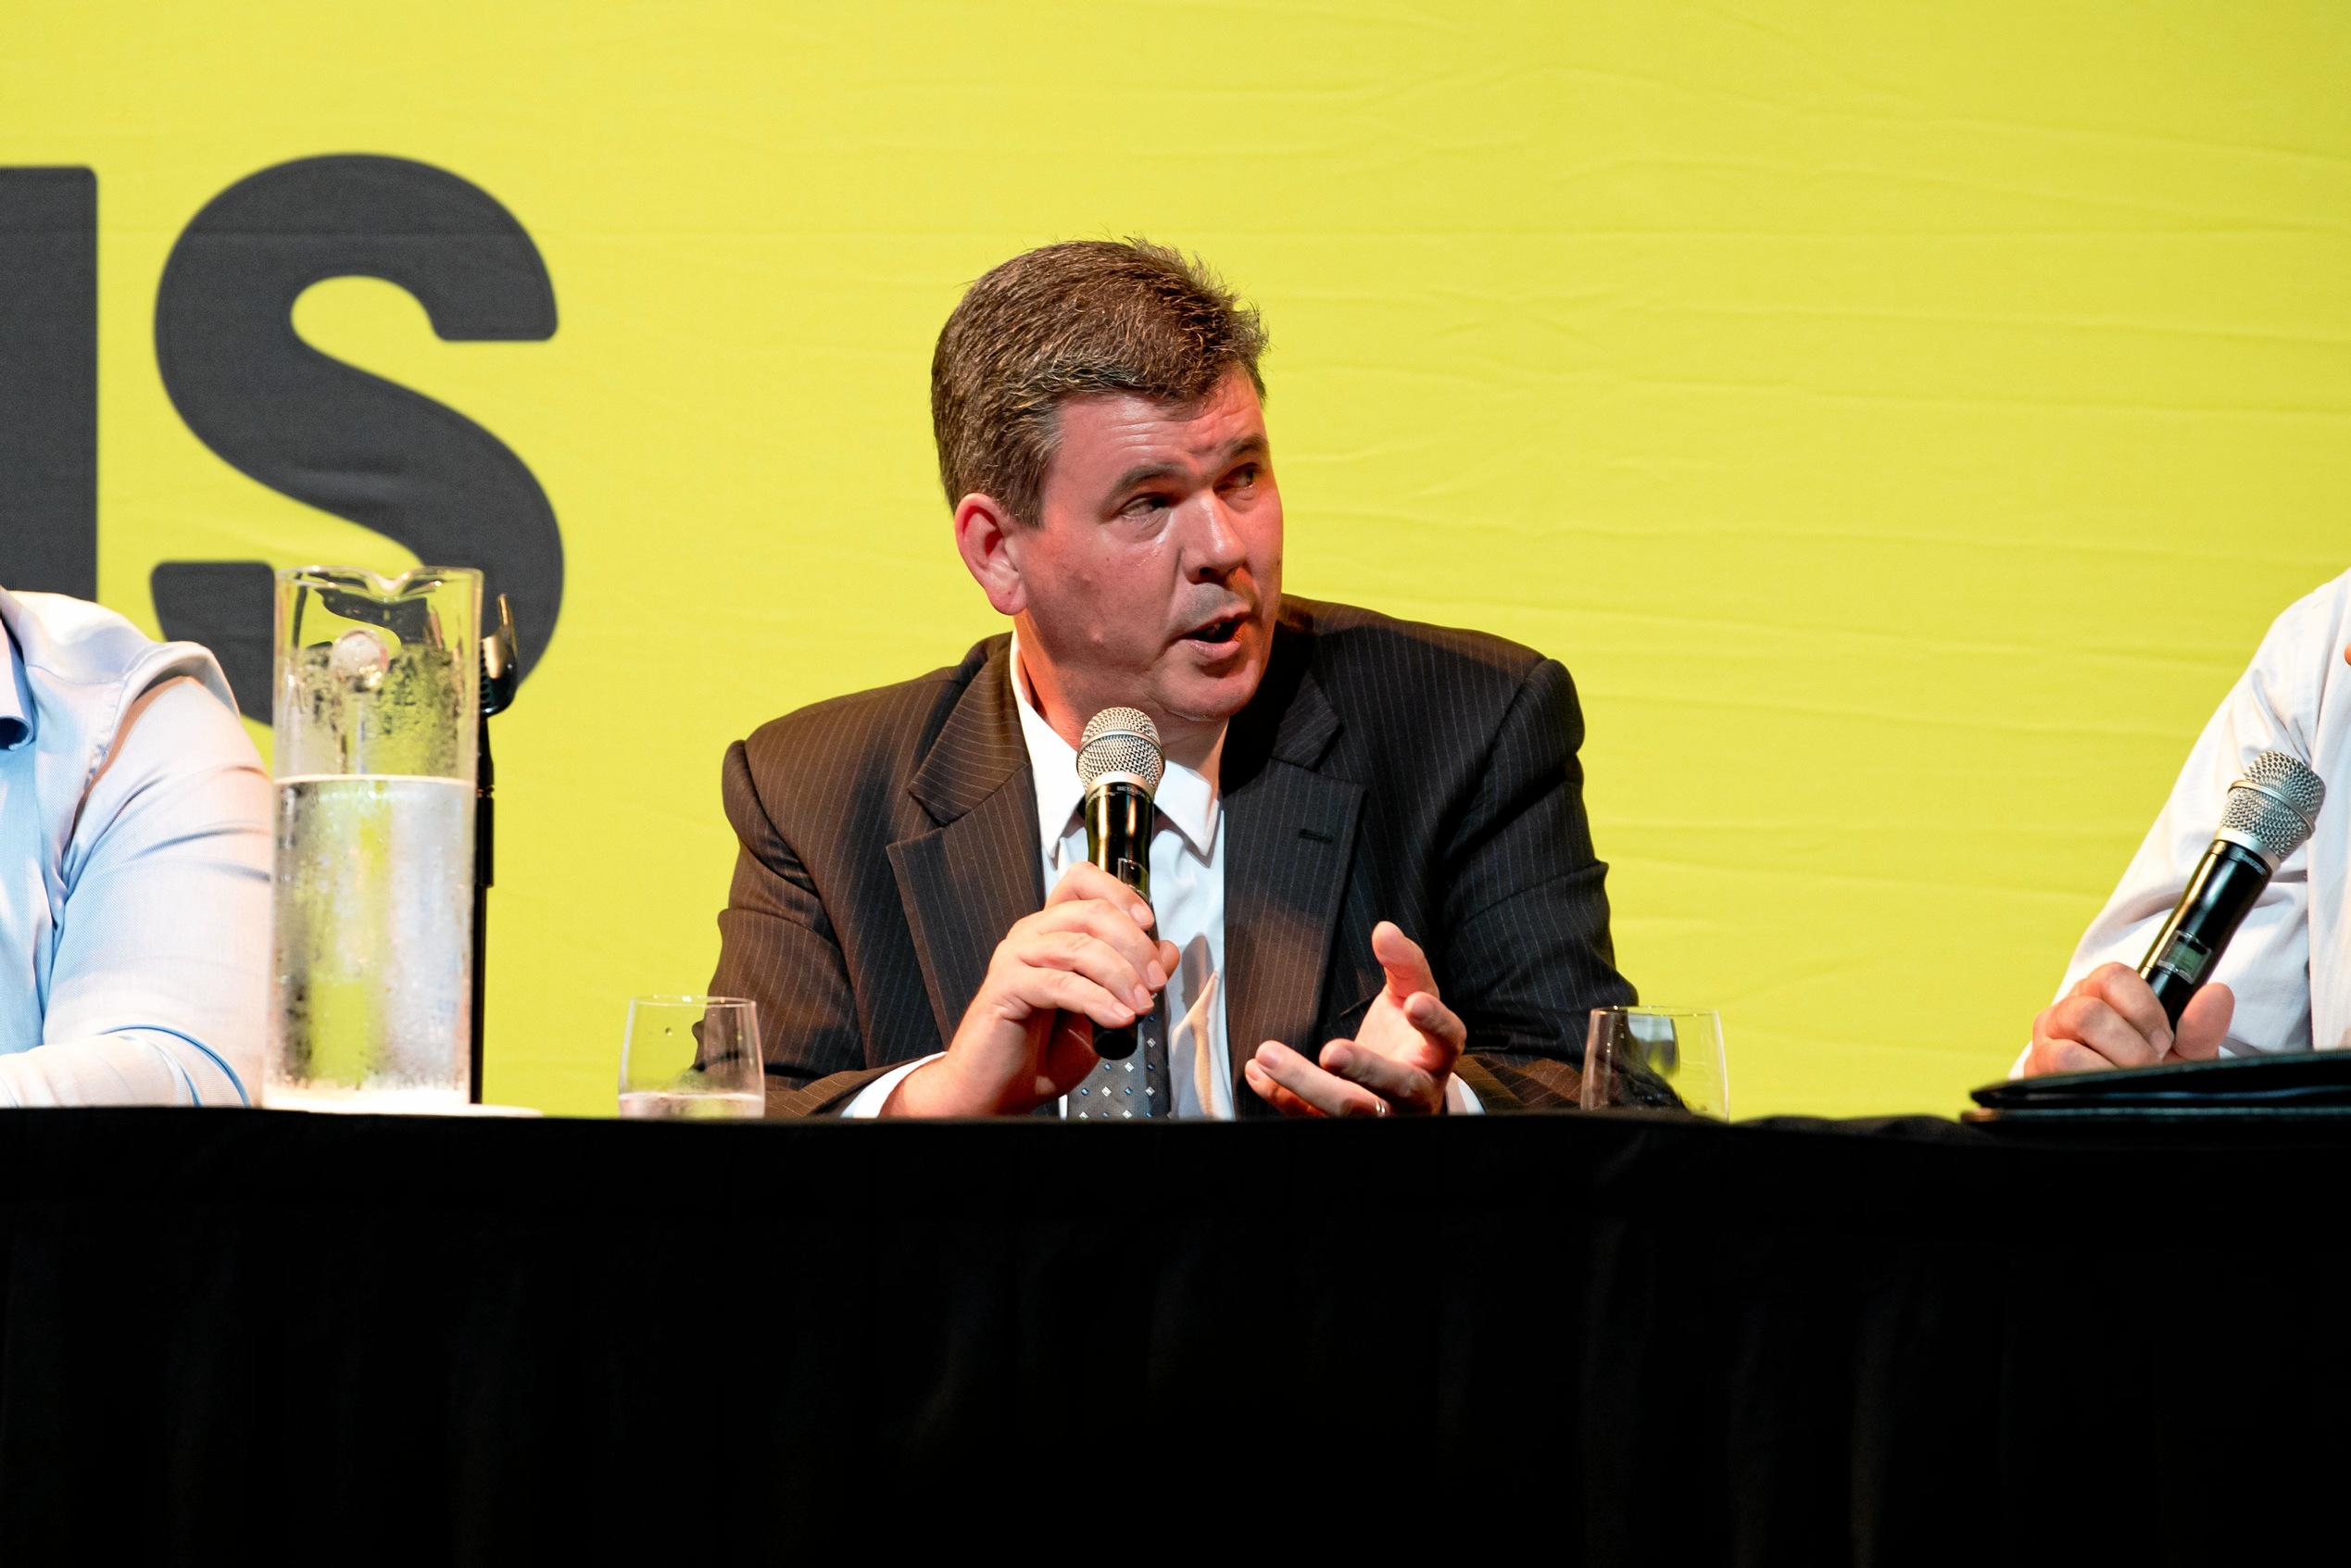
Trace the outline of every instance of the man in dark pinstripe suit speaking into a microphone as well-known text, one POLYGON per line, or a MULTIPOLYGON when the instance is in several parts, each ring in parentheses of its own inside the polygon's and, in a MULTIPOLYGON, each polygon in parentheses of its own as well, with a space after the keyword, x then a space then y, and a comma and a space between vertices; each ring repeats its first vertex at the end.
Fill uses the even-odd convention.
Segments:
POLYGON ((759 1004, 771 1114, 1573 1105, 1589 1009, 1632 999, 1573 684, 1495 637, 1284 599, 1262 346, 1143 242, 1027 252, 947 320, 940 477, 1013 632, 726 752, 710 990, 759 1004), (1107 705, 1166 745, 1157 907, 1074 823, 1107 705), (1171 1086, 1136 1098, 1091 1039, 1157 1004, 1171 1086))

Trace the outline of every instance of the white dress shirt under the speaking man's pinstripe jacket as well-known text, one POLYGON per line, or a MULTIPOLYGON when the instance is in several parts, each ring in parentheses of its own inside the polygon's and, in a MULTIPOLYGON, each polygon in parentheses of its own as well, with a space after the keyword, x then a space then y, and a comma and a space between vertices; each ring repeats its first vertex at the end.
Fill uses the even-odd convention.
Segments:
MULTIPOLYGON (((1006 670, 1020 710, 1020 738, 1027 743, 1030 776, 1037 783, 1037 844, 1044 856, 1044 884, 1051 889, 1063 872, 1086 858, 1086 785, 1077 778, 1077 750, 1053 733, 1037 712, 1020 665, 1020 639, 1013 637, 1006 670)), ((1168 762, 1152 804, 1159 809, 1152 830, 1152 917, 1157 936, 1176 943, 1176 973, 1166 985, 1168 1088, 1176 1117, 1213 1117, 1232 1121, 1232 1046, 1225 1039, 1225 837, 1218 776, 1225 736, 1218 733, 1199 769, 1168 762)), ((1286 1041, 1307 1056, 1321 1041, 1286 1041)), ((1255 1044, 1251 1044, 1255 1051, 1255 1044)), ((936 1056, 903 1063, 849 1100, 844 1117, 879 1117, 884 1100, 905 1074, 936 1056)), ((1483 1112, 1476 1093, 1458 1077, 1446 1079, 1446 1110, 1483 1112)), ((1060 1112, 1070 1114, 1063 1095, 1060 1112)))

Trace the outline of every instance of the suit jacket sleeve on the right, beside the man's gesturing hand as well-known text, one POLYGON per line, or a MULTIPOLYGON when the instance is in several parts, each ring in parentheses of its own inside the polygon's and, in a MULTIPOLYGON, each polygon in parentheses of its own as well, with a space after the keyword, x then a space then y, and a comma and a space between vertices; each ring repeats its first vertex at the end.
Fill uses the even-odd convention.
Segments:
POLYGON ((1575 1105, 1592 1009, 1634 1001, 1608 940, 1608 867, 1585 820, 1582 736, 1575 684, 1559 661, 1540 661, 1446 846, 1436 976, 1460 999, 1460 1072, 1488 1110, 1575 1105))

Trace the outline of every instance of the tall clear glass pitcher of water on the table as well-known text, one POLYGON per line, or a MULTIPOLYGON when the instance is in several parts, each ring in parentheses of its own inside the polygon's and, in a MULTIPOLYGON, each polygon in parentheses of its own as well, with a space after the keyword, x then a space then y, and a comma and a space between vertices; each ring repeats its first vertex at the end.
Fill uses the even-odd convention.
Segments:
POLYGON ((263 1105, 465 1107, 480 644, 480 571, 277 574, 263 1105))

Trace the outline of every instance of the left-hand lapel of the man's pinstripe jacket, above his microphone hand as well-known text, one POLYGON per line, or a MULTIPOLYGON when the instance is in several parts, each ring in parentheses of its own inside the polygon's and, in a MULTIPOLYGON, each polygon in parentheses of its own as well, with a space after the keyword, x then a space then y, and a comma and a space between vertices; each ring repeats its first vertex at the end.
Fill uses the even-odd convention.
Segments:
POLYGON ((907 792, 938 827, 891 844, 889 863, 945 1044, 997 943, 1044 905, 1037 783, 1020 743, 1004 642, 964 689, 907 792))

